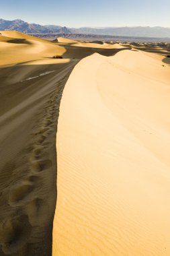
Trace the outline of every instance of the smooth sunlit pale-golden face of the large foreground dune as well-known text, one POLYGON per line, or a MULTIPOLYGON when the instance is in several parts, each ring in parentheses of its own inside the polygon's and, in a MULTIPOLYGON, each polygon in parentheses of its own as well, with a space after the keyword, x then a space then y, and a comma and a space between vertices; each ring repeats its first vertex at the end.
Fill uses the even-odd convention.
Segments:
POLYGON ((58 120, 53 256, 170 255, 169 86, 151 53, 75 67, 58 120))

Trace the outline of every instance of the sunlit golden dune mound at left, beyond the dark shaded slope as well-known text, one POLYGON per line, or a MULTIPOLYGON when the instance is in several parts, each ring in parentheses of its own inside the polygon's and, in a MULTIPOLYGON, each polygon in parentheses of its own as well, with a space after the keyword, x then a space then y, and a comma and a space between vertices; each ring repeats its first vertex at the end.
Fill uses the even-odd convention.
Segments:
POLYGON ((0 65, 63 55, 65 48, 16 31, 0 31, 0 65))

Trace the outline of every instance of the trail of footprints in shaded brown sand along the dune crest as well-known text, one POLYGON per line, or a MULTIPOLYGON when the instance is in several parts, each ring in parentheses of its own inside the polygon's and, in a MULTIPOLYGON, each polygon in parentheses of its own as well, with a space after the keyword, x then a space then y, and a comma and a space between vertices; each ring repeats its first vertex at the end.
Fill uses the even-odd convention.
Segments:
MULTIPOLYGON (((39 255, 32 253, 32 250, 29 253, 28 247, 34 245, 33 251, 36 251, 35 244, 38 247, 38 243, 41 243, 40 247, 43 247, 44 230, 52 219, 52 216, 49 216, 52 212, 50 207, 54 207, 56 201, 54 197, 53 202, 48 202, 51 186, 56 183, 54 180, 55 162, 48 154, 51 149, 49 137, 53 137, 55 144, 60 98, 67 77, 68 75, 58 82, 44 110, 38 113, 38 120, 33 127, 34 133, 30 138, 30 141, 34 143, 31 142, 26 146, 24 153, 28 154, 28 160, 24 166, 18 168, 18 173, 22 171, 21 168, 26 168, 24 177, 18 182, 15 181, 9 189, 8 204, 9 208, 12 208, 12 210, 9 209, 11 214, 0 223, 0 245, 4 255, 39 255), (51 180, 49 184, 46 184, 46 179, 51 180)), ((43 255, 47 256, 45 252, 43 255)))

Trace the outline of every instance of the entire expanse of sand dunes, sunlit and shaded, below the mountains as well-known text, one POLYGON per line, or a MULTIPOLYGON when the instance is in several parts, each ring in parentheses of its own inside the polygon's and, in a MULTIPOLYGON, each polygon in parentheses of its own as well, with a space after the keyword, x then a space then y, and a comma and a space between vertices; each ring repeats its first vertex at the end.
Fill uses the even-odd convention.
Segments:
POLYGON ((169 54, 0 32, 1 256, 170 255, 169 54))

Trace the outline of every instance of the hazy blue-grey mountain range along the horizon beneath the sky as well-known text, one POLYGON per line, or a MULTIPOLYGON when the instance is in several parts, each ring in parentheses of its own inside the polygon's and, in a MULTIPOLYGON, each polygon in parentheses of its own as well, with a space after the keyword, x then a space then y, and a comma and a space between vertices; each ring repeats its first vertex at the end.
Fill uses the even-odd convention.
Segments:
POLYGON ((32 33, 57 33, 57 34, 97 34, 108 36, 138 36, 170 38, 170 28, 163 27, 121 27, 121 28, 67 28, 55 25, 29 24, 23 20, 0 19, 0 30, 17 30, 26 34, 32 33))

